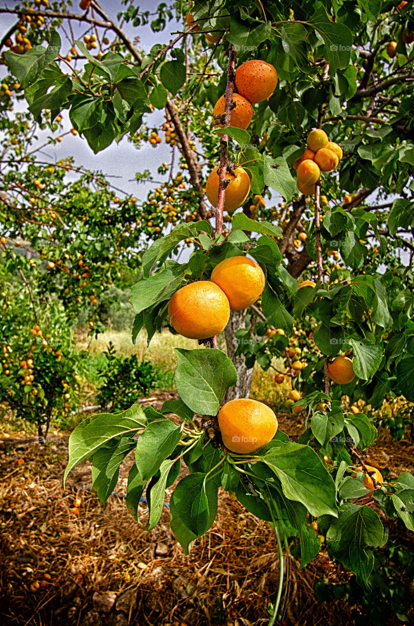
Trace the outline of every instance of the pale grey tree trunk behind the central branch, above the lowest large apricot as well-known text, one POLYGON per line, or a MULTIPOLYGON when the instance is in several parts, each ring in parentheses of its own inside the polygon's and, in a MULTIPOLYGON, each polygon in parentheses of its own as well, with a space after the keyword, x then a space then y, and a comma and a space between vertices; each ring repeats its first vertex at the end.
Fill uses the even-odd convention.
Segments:
POLYGON ((247 369, 244 362, 244 354, 234 356, 237 347, 235 332, 241 328, 246 328, 246 310, 230 311, 230 319, 224 329, 225 343, 227 344, 227 356, 234 363, 237 371, 237 384, 227 389, 224 402, 229 402, 236 398, 249 398, 250 388, 253 379, 253 367, 247 369))

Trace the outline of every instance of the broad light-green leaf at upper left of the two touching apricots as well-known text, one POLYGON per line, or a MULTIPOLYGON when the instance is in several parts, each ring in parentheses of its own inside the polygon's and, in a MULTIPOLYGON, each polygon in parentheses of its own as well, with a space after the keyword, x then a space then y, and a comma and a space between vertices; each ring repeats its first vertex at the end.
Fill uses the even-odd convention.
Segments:
POLYGON ((179 289, 185 272, 178 276, 171 270, 155 272, 149 278, 138 280, 131 287, 130 302, 135 313, 153 307, 158 302, 168 300, 179 289))

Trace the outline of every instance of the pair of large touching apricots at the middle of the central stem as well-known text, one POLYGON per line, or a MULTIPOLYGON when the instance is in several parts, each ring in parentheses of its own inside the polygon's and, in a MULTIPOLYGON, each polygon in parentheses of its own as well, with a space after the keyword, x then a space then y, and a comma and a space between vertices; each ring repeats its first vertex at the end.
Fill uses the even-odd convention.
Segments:
POLYGON ((210 280, 179 289, 168 304, 170 322, 189 339, 210 339, 222 332, 231 310, 246 309, 264 289, 263 271, 252 259, 230 257, 216 265, 210 280))

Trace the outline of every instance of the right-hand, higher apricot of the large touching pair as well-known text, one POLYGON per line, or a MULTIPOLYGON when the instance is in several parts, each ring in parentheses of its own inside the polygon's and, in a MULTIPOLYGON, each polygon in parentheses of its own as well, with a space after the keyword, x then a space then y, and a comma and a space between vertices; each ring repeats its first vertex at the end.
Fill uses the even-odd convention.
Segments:
POLYGON ((210 280, 224 291, 234 311, 247 309, 264 289, 262 268, 246 257, 224 259, 215 266, 210 280))

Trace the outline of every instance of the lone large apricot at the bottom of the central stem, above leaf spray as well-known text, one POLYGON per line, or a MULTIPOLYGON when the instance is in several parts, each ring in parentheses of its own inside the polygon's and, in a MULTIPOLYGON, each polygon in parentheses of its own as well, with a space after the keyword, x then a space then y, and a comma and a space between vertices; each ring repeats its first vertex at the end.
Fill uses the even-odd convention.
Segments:
POLYGON ((230 400, 217 418, 225 447, 239 454, 250 454, 266 446, 277 431, 276 415, 257 400, 230 400))

